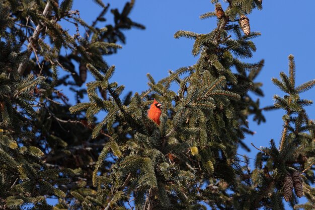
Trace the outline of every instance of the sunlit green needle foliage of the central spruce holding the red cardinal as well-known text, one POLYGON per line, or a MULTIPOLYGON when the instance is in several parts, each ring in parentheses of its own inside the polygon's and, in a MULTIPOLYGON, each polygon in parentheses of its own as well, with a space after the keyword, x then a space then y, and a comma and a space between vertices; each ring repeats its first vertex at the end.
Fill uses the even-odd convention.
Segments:
MULTIPOLYGON (((256 6, 251 4, 251 10, 256 6)), ((195 40, 192 54, 199 55, 198 62, 171 71, 159 82, 147 75, 149 89, 135 93, 128 106, 120 99, 124 87, 109 81, 114 66, 103 75, 87 65, 96 79, 87 84, 90 102, 78 103, 70 112, 85 110, 92 123, 95 114, 105 111, 92 138, 106 133, 108 141, 93 173, 97 196, 86 196, 83 205, 125 209, 134 200, 136 209, 233 208, 228 190, 238 190, 243 173, 237 149, 247 148, 244 135, 252 133, 248 116, 265 121, 259 101, 249 95, 263 96, 261 83, 253 80, 264 61, 241 60, 252 57, 256 48, 250 39, 260 34, 244 35, 233 23, 246 11, 242 4, 229 4, 212 32, 178 31, 175 38, 195 40), (174 83, 176 92, 170 89, 174 83), (98 88, 108 92, 108 100, 98 96, 98 88), (153 97, 163 103, 159 126, 146 116, 153 97), (104 167, 109 159, 113 162, 104 167)))

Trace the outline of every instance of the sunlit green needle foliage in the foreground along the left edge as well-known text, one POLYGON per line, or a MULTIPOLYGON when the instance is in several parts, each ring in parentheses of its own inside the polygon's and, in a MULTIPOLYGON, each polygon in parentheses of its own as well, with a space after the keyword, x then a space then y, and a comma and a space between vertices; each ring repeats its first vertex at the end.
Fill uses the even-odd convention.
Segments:
POLYGON ((37 115, 32 107, 35 97, 30 92, 49 85, 43 76, 20 77, 17 69, 26 53, 6 31, 13 22, 10 9, 3 2, 0 14, 0 208, 20 209, 25 203, 32 203, 34 209, 51 209, 45 196, 65 197, 57 183, 67 182, 67 176, 74 172, 67 168, 49 169, 40 159, 44 153, 29 141, 35 135, 30 132, 31 120, 37 115))

